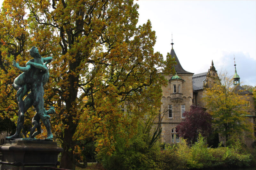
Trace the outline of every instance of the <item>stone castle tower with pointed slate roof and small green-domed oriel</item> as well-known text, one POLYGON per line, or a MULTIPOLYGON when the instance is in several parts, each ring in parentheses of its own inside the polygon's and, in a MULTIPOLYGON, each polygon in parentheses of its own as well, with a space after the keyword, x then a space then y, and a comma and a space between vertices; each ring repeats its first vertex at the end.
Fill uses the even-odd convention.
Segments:
POLYGON ((185 119, 184 112, 193 104, 192 76, 194 73, 184 70, 173 49, 171 43, 171 57, 175 59, 175 75, 163 75, 168 81, 166 87, 162 87, 162 142, 177 143, 180 141, 176 133, 176 126, 185 119))

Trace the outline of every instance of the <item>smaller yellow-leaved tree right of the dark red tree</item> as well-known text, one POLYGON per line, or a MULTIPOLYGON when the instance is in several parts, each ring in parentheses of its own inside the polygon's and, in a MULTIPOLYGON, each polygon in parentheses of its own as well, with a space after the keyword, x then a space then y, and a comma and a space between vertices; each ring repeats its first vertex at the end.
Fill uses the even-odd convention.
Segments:
POLYGON ((234 135, 244 134, 252 137, 253 125, 246 117, 247 97, 233 91, 230 87, 232 79, 226 76, 220 77, 222 77, 222 83, 216 83, 212 88, 207 88, 204 101, 207 103, 208 112, 213 117, 213 128, 224 137, 225 145, 234 135))

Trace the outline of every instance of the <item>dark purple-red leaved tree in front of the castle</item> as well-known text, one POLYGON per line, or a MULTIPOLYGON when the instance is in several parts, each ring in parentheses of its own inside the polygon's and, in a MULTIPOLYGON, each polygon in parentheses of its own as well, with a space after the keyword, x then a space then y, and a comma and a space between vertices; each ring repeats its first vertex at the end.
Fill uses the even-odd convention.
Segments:
POLYGON ((211 115, 202 107, 190 106, 190 110, 184 113, 185 120, 177 126, 177 133, 187 139, 189 144, 196 142, 198 134, 207 136, 211 130, 211 115))

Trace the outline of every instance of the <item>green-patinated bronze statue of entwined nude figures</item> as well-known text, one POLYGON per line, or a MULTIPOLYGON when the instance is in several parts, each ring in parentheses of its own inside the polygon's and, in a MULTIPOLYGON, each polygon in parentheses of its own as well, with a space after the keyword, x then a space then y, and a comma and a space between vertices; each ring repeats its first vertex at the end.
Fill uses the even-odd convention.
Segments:
POLYGON ((20 67, 19 63, 16 63, 16 61, 13 60, 13 66, 23 73, 14 79, 12 85, 13 88, 17 90, 17 101, 19 104, 19 117, 16 133, 10 137, 6 137, 6 140, 20 138, 25 112, 27 112, 28 108, 31 106, 36 108, 36 115, 32 119, 33 127, 31 128, 29 138, 34 138, 41 133, 40 119, 47 130, 46 139, 52 139, 53 137, 49 114, 55 113, 55 110, 54 107, 51 107, 48 111, 44 109, 43 87, 49 80, 49 70, 46 65, 52 61, 52 57, 41 57, 36 47, 32 47, 29 53, 34 59, 29 60, 25 67, 20 67), (22 100, 25 95, 27 95, 26 98, 22 100), (35 129, 37 129, 36 132, 34 132, 35 129))

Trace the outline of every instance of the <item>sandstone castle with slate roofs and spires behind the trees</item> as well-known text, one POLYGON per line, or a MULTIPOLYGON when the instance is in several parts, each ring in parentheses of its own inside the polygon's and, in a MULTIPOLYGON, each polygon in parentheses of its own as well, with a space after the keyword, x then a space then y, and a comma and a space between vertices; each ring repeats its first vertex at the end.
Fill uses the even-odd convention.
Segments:
MULTIPOLYGON (((170 54, 177 62, 174 65, 176 74, 163 75, 168 80, 168 85, 162 87, 162 106, 160 108, 160 119, 162 121, 161 142, 169 144, 180 142, 179 135, 176 133, 176 126, 185 119, 183 113, 188 111, 191 105, 207 109, 206 103, 203 100, 205 88, 211 88, 216 83, 216 80, 220 79, 213 61, 207 72, 194 74, 184 70, 174 52, 173 43, 171 44, 172 49, 170 54)), ((239 89, 238 91, 241 95, 244 95, 244 93, 251 95, 250 100, 248 100, 247 116, 255 124, 255 109, 252 93, 244 91, 244 88, 240 86, 239 79, 235 69, 235 75, 233 77, 235 90, 239 89)))

